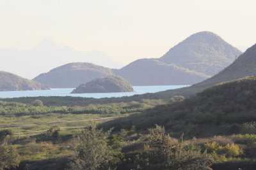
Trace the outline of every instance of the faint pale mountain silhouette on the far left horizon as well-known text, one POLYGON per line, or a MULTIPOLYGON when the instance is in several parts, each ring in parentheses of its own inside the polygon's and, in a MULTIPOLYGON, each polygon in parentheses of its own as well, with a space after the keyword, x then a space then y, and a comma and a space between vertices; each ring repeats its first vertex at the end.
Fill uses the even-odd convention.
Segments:
POLYGON ((1 70, 26 78, 34 78, 40 73, 69 62, 90 62, 109 68, 124 66, 114 62, 100 51, 78 52, 67 45, 55 43, 52 38, 44 39, 35 48, 29 50, 0 49, 0 56, 1 60, 4 60, 0 62, 1 70))

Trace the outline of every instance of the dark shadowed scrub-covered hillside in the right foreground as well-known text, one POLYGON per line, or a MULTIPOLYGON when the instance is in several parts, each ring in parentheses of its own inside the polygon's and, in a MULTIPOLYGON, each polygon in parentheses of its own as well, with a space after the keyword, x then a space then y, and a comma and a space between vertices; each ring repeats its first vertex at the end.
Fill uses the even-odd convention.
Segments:
MULTIPOLYGON (((186 136, 213 136, 239 133, 242 124, 256 121, 256 76, 220 83, 181 102, 164 104, 143 114, 120 118, 107 126, 115 129, 147 129, 164 125, 171 132, 186 136), (111 126, 112 127, 112 126, 111 126)), ((104 125, 103 125, 104 126, 104 125)))

